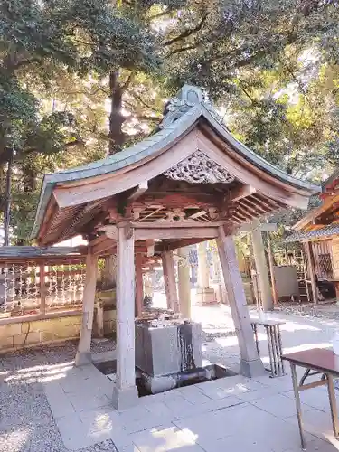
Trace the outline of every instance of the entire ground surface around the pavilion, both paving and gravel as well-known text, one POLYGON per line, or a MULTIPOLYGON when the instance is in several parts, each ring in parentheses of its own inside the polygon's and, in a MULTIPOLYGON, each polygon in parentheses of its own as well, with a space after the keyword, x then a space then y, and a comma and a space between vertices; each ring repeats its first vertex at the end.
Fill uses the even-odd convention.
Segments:
MULTIPOLYGON (((330 346, 338 325, 328 318, 272 316, 287 322, 286 352, 330 346)), ((193 318, 202 322, 205 360, 236 370, 239 349, 227 306, 193 306, 193 318)), ((259 341, 267 361, 262 331, 259 341)), ((92 365, 74 368, 75 350, 69 343, 2 356, 0 452, 300 450, 289 375, 228 377, 144 397, 136 408, 118 412, 110 404, 114 383, 92 365)), ((325 388, 304 391, 301 398, 308 450, 338 451, 325 388)))

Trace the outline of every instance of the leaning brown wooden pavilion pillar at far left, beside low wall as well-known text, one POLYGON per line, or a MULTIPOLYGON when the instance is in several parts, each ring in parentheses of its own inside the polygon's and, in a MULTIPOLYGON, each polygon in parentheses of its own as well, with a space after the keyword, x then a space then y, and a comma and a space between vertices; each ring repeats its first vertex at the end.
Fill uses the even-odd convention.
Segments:
POLYGON ((82 300, 82 321, 75 365, 91 363, 90 341, 92 337, 95 289, 97 285, 98 257, 91 254, 86 258, 86 279, 82 300))

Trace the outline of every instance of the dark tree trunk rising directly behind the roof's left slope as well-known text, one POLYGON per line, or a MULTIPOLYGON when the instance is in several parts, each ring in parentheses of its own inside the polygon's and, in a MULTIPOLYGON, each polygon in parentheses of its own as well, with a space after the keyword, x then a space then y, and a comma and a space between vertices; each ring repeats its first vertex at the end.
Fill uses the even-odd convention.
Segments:
POLYGON ((116 154, 122 150, 125 141, 125 134, 122 131, 125 118, 122 115, 122 94, 123 90, 118 83, 118 71, 109 73, 109 146, 108 155, 116 154))

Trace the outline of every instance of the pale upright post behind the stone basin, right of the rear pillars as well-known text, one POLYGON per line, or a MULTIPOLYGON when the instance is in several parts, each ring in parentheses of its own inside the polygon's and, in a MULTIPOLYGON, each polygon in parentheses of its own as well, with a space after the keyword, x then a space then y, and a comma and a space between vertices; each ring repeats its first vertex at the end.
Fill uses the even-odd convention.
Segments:
POLYGON ((188 248, 179 248, 178 292, 180 312, 184 318, 191 318, 191 281, 188 248))

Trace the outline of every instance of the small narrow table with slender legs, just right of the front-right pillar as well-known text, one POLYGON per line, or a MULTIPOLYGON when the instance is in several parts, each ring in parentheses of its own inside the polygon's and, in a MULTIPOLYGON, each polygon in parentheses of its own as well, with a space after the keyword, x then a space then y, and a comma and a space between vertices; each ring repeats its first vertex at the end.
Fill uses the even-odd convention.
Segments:
POLYGON ((260 350, 258 340, 258 325, 263 325, 266 330, 268 337, 268 356, 270 364, 270 367, 267 370, 270 372, 271 377, 279 377, 285 374, 284 363, 281 359, 282 343, 280 334, 280 325, 284 324, 285 322, 281 320, 250 318, 250 325, 252 325, 259 356, 260 350))

